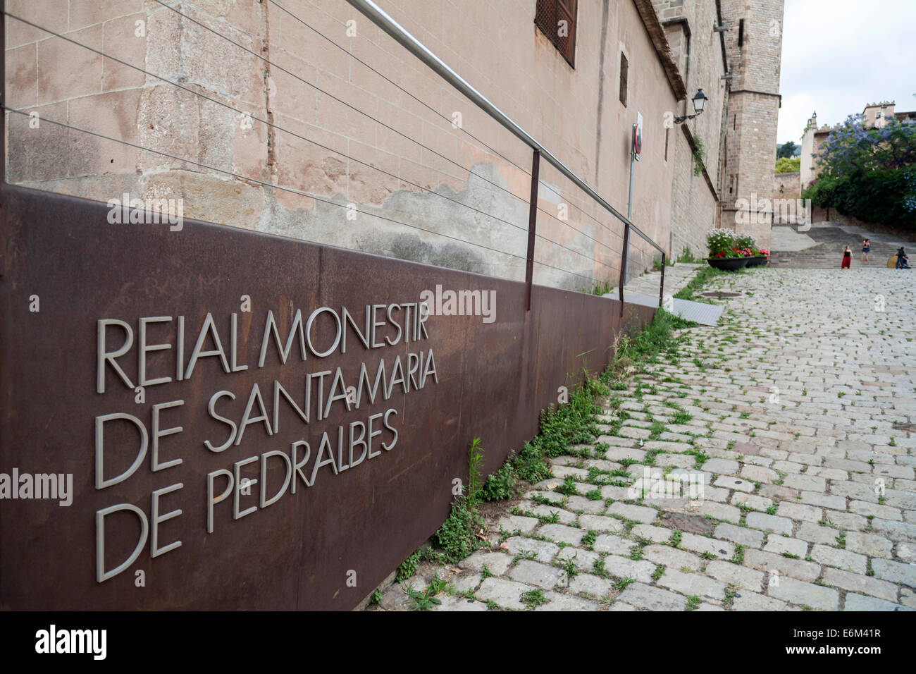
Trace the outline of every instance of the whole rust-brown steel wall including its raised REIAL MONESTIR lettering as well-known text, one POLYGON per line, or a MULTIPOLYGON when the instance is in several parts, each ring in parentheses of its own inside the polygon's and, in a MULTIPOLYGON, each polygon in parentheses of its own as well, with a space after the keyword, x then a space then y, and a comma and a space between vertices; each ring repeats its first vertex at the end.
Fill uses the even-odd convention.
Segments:
POLYGON ((654 313, 3 190, 5 609, 351 608, 654 313))

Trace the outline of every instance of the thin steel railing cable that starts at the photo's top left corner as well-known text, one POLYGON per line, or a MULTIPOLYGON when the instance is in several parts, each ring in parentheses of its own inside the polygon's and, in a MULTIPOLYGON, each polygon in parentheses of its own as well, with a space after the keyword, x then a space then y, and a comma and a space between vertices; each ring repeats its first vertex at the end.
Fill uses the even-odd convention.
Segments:
MULTIPOLYGON (((132 69, 136 70, 137 72, 142 72, 143 74, 145 74, 145 75, 147 75, 147 76, 149 76, 149 77, 154 77, 154 78, 158 79, 159 81, 161 81, 161 82, 163 82, 163 83, 168 83, 168 84, 170 84, 170 85, 172 85, 172 86, 175 86, 175 87, 177 87, 177 88, 181 89, 182 91, 185 91, 185 92, 187 92, 187 93, 189 93, 189 94, 193 94, 193 95, 199 96, 199 97, 201 97, 202 99, 204 99, 204 100, 206 100, 206 101, 209 101, 209 102, 211 102, 211 103, 214 103, 214 104, 216 104, 216 105, 221 105, 221 106, 223 106, 223 107, 225 107, 225 108, 227 108, 227 109, 229 109, 229 110, 232 110, 234 113, 237 113, 237 114, 239 114, 239 115, 245 115, 245 116, 247 116, 247 117, 248 117, 251 121, 253 121, 253 122, 259 122, 259 123, 261 123, 261 124, 264 124, 264 125, 267 126, 267 127, 272 127, 272 128, 275 128, 275 129, 277 129, 278 131, 281 131, 281 132, 283 132, 283 133, 288 133, 289 135, 294 136, 295 138, 300 138, 301 140, 304 140, 304 141, 306 141, 306 142, 308 142, 308 143, 311 143, 311 144, 315 145, 316 147, 325 149, 325 150, 327 150, 327 151, 329 151, 329 152, 333 152, 334 154, 336 154, 336 155, 338 155, 338 156, 340 156, 340 157, 343 157, 344 159, 355 161, 356 163, 362 164, 363 166, 365 166, 365 167, 367 167, 367 168, 369 168, 369 169, 373 169, 373 170, 375 170, 375 171, 379 171, 380 173, 383 173, 383 174, 385 174, 385 175, 387 175, 387 176, 389 176, 389 177, 391 177, 391 178, 394 178, 394 179, 397 180, 398 182, 405 182, 405 183, 407 183, 407 184, 409 184, 409 185, 412 185, 412 186, 416 187, 416 188, 419 189, 419 190, 422 190, 422 191, 425 192, 425 193, 431 193, 431 194, 434 194, 434 195, 436 195, 436 196, 439 196, 439 197, 441 197, 442 199, 446 199, 447 201, 452 202, 453 204, 457 204, 457 205, 459 205, 459 206, 463 206, 463 207, 465 207, 465 208, 468 208, 468 209, 474 211, 475 213, 478 213, 478 214, 480 214, 480 215, 484 215, 485 217, 492 218, 492 219, 494 219, 494 220, 496 220, 496 221, 498 221, 498 222, 501 222, 501 223, 503 223, 503 224, 505 224, 505 225, 508 225, 509 227, 515 227, 516 229, 519 229, 520 231, 523 231, 523 232, 527 232, 527 231, 528 231, 526 227, 521 227, 521 226, 519 226, 519 225, 517 225, 517 224, 515 224, 515 223, 513 223, 513 222, 510 222, 510 221, 506 220, 505 218, 501 218, 501 217, 499 217, 499 216, 497 216, 497 215, 493 215, 493 214, 487 213, 487 212, 485 212, 485 211, 483 211, 483 210, 481 210, 481 209, 479 209, 479 208, 475 208, 474 206, 471 206, 471 205, 468 205, 468 204, 463 204, 462 202, 458 201, 457 199, 453 199, 452 197, 448 196, 447 194, 442 194, 442 193, 436 192, 436 191, 434 191, 434 190, 431 190, 431 189, 428 188, 428 187, 423 187, 422 185, 420 185, 420 184, 418 184, 418 183, 416 183, 416 182, 411 182, 411 181, 407 180, 406 178, 403 178, 403 177, 401 177, 401 176, 396 175, 395 173, 392 173, 392 172, 390 172, 390 171, 385 171, 384 169, 381 169, 380 167, 373 166, 372 164, 369 164, 369 163, 367 163, 367 162, 365 162, 365 161, 363 161, 363 160, 359 160, 359 159, 357 159, 357 158, 355 158, 355 157, 353 157, 353 156, 351 156, 351 155, 348 155, 348 154, 346 154, 346 153, 344 153, 344 152, 341 152, 340 150, 330 148, 330 147, 328 147, 328 146, 326 146, 326 145, 323 145, 322 143, 319 143, 319 142, 316 141, 316 140, 312 140, 311 138, 306 138, 305 136, 302 136, 302 135, 300 135, 300 134, 296 133, 295 131, 292 131, 292 130, 290 130, 290 129, 288 129, 288 128, 281 127, 280 125, 275 124, 275 123, 273 123, 273 122, 270 122, 270 121, 268 121, 268 120, 266 120, 266 119, 261 119, 260 117, 255 116, 255 115, 253 115, 253 114, 251 114, 251 113, 249 113, 249 112, 245 112, 245 111, 243 111, 243 110, 239 110, 238 108, 234 107, 234 105, 229 105, 229 104, 225 103, 224 101, 220 101, 220 100, 218 100, 218 99, 212 98, 211 96, 208 96, 208 95, 206 95, 206 94, 201 94, 200 92, 194 91, 193 89, 191 89, 191 88, 189 88, 189 87, 187 87, 187 86, 184 86, 184 85, 182 85, 182 84, 180 84, 180 83, 177 83, 177 82, 174 82, 174 81, 172 81, 172 80, 169 80, 168 78, 162 77, 162 76, 156 74, 155 72, 149 72, 149 71, 147 71, 147 70, 145 70, 145 69, 143 69, 143 68, 140 68, 139 66, 136 66, 136 65, 134 65, 134 64, 132 64, 132 63, 129 63, 129 62, 127 62, 127 61, 123 61, 123 60, 121 60, 121 59, 119 59, 119 58, 117 58, 117 57, 115 57, 115 56, 112 56, 111 54, 108 54, 108 53, 106 53, 106 52, 104 52, 104 51, 102 51, 102 50, 96 50, 96 49, 94 49, 93 47, 89 47, 88 45, 82 44, 82 42, 79 42, 79 41, 77 41, 77 40, 68 38, 68 37, 66 37, 66 36, 64 36, 64 35, 60 35, 60 33, 57 33, 57 32, 55 32, 55 31, 53 31, 53 30, 50 30, 49 28, 44 28, 44 27, 42 27, 42 26, 39 26, 38 24, 35 24, 35 23, 31 22, 31 21, 28 21, 27 19, 24 19, 24 18, 21 18, 21 17, 17 17, 16 15, 13 15, 13 14, 6 13, 6 16, 8 16, 8 17, 10 17, 10 18, 13 18, 13 19, 16 19, 17 21, 21 21, 22 23, 27 24, 28 26, 31 26, 31 27, 33 27, 33 28, 38 28, 39 30, 43 30, 43 31, 49 33, 50 35, 53 35, 53 36, 56 37, 56 38, 64 39, 64 40, 66 40, 66 41, 68 41, 68 42, 71 42, 71 44, 74 44, 74 45, 77 45, 77 46, 79 46, 79 47, 82 47, 82 48, 85 49, 85 50, 92 51, 93 53, 96 53, 96 54, 98 54, 98 55, 100 55, 100 56, 102 56, 102 57, 104 57, 104 58, 106 58, 106 59, 110 59, 110 60, 112 60, 112 61, 115 61, 115 62, 117 62, 117 63, 120 63, 120 64, 122 64, 122 65, 125 65, 126 67, 132 68, 132 69)), ((231 40, 230 40, 230 41, 231 41, 231 40)), ((376 121, 377 121, 377 120, 376 120, 376 121)), ((79 130, 79 129, 76 129, 76 130, 79 130)), ((141 146, 141 147, 142 147, 142 146, 141 146)), ((425 147, 425 146, 422 146, 422 147, 425 147)), ((149 149, 149 148, 142 148, 142 149, 147 149, 148 151, 156 151, 156 150, 149 149)), ((191 160, 187 160, 187 161, 191 161, 191 160)), ((433 169, 433 170, 434 170, 434 169, 433 169)), ((475 175, 475 176, 478 176, 478 174, 473 173, 473 171, 468 171, 468 172, 471 173, 471 174, 473 174, 473 175, 475 175)), ((244 179, 245 179, 245 180, 253 180, 253 179, 248 179, 248 178, 244 178, 244 179)), ((270 184, 272 184, 272 183, 270 183, 270 184)), ((310 194, 310 196, 312 196, 312 195, 310 194)), ((545 212, 545 214, 546 214, 546 212, 545 212)), ((401 214, 401 215, 404 215, 404 214, 401 214)), ((546 214, 546 215, 550 215, 550 214, 546 214)), ((558 219, 558 220, 559 220, 559 219, 558 219)), ((559 221, 560 221, 560 222, 563 222, 562 220, 559 220, 559 221)), ((400 221, 394 221, 394 222, 400 222, 400 221)), ((406 223, 401 223, 401 224, 406 224, 406 223)), ((588 237, 588 235, 585 234, 584 232, 582 232, 582 231, 576 229, 575 227, 573 227, 572 225, 569 225, 568 223, 565 223, 565 222, 563 222, 563 224, 566 225, 566 226, 568 226, 568 227, 570 227, 571 229, 573 229, 574 231, 578 232, 579 234, 582 234, 584 237, 586 237, 586 238, 591 238, 591 237, 588 237)), ((548 237, 544 237, 543 235, 540 235, 540 234, 537 235, 537 236, 538 236, 538 238, 540 238, 540 239, 542 239, 542 240, 544 240, 544 241, 547 241, 548 243, 551 243, 551 244, 553 244, 554 246, 558 246, 558 247, 560 247, 560 248, 562 248, 562 249, 565 249, 565 250, 568 250, 568 251, 570 251, 570 252, 572 252, 572 253, 575 253, 576 255, 580 255, 580 256, 582 256, 583 258, 585 258, 586 260, 590 260, 590 261, 592 261, 592 262, 596 262, 596 263, 598 263, 598 264, 604 265, 605 267, 611 268, 611 265, 608 265, 608 264, 606 264, 605 262, 603 262, 603 261, 601 261, 601 260, 594 259, 594 258, 592 258, 591 256, 586 255, 585 253, 583 253, 583 252, 580 251, 580 250, 571 249, 571 248, 569 248, 568 246, 564 246, 564 245, 563 245, 562 243, 560 243, 559 241, 554 241, 553 239, 548 238, 548 237)), ((457 239, 457 240, 463 240, 463 239, 457 239)), ((599 245, 605 245, 605 244, 602 244, 602 243, 601 243, 600 241, 598 241, 597 239, 594 239, 594 238, 593 238, 593 240, 595 241, 595 243, 598 243, 599 245)), ((607 248, 610 249, 610 247, 607 247, 607 248)), ((613 250, 613 249, 612 249, 612 250, 613 250)), ((520 257, 520 256, 516 256, 516 257, 520 257)))

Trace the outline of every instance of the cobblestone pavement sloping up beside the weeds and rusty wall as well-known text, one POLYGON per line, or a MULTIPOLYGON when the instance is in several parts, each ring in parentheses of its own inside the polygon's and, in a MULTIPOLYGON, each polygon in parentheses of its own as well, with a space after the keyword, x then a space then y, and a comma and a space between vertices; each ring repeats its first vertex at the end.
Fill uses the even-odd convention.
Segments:
MULTIPOLYGON (((491 547, 409 584, 450 584, 434 610, 528 609, 526 592, 539 611, 912 610, 913 281, 714 278, 742 293, 721 325, 613 392, 605 435, 553 459, 491 547)), ((409 605, 398 585, 382 597, 409 605)))

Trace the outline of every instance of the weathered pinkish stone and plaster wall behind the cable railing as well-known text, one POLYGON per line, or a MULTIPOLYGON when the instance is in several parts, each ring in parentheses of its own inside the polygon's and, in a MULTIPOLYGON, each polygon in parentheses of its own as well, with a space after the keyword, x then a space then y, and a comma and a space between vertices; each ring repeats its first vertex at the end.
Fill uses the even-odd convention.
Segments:
MULTIPOLYGON (((724 23, 731 39, 729 3, 581 2, 574 66, 534 25, 533 0, 497 13, 476 2, 379 5, 624 214, 641 114, 633 222, 674 256, 703 254, 731 105, 722 77, 732 57, 713 28, 724 23), (692 114, 699 88, 706 112, 673 124, 692 114)), ((781 2, 762 5, 781 18, 781 2)), ((6 7, 7 105, 24 113, 6 116, 10 182, 102 201, 181 199, 185 217, 523 278, 530 149, 345 0, 6 7)), ((778 90, 779 41, 767 45, 754 58, 775 58, 766 84, 778 90)), ((773 142, 756 122, 768 105, 748 124, 771 154, 775 115, 773 142)), ((737 157, 746 138, 731 143, 737 157)), ((740 170, 757 171, 747 151, 740 170)), ((540 179, 535 282, 615 284, 621 223, 544 161, 540 179)), ((657 257, 631 238, 631 275, 657 257)))

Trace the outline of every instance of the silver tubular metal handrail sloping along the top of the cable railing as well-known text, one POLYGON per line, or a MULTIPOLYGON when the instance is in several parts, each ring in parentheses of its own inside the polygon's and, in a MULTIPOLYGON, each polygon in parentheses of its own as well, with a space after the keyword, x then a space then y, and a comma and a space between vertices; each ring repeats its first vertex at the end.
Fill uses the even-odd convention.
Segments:
POLYGON ((411 54, 416 56, 420 61, 423 61, 427 66, 431 68, 432 71, 436 72, 443 80, 447 83, 450 83, 455 89, 464 94, 467 98, 471 99, 480 109, 482 109, 487 115, 496 119, 501 125, 506 127, 513 135, 519 138, 522 142, 529 146, 529 148, 536 150, 540 153, 540 156, 547 160, 551 166, 553 166, 557 171, 560 171, 563 175, 569 178, 577 187, 579 187, 584 193, 591 196, 598 204, 601 204, 605 210, 614 215, 620 222, 624 223, 634 232, 636 232, 640 237, 646 239, 656 250, 658 250, 662 256, 665 255, 664 249, 662 249, 655 241, 643 234, 638 227, 636 227, 629 219, 619 213, 614 206, 608 204, 601 194, 597 193, 588 185, 587 182, 583 181, 578 175, 576 175, 570 168, 568 168, 561 160, 558 160, 549 149, 541 145, 535 138, 533 138, 525 129, 519 127, 506 113, 500 110, 496 105, 493 105, 484 94, 481 94, 470 83, 468 83, 461 75, 457 72, 454 72, 442 59, 433 54, 426 45, 420 42, 419 39, 414 38, 406 28, 403 28, 398 24, 395 19, 390 17, 385 10, 377 6, 372 0, 347 0, 350 5, 354 6, 356 10, 361 12, 368 18, 372 23, 374 23, 378 28, 384 30, 391 38, 395 39, 404 49, 408 50, 411 54))

